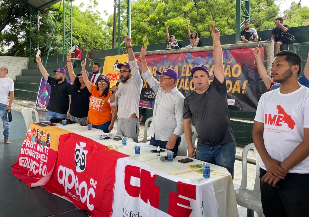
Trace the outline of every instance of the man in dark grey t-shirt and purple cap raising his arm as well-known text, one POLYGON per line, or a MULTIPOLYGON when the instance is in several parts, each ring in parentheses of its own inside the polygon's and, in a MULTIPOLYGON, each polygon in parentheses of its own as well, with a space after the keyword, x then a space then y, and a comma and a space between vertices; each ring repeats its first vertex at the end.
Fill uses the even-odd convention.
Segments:
POLYGON ((197 65, 191 70, 196 91, 184 99, 184 133, 190 157, 225 167, 232 175, 235 163, 235 139, 227 106, 226 80, 220 32, 213 27, 214 78, 210 83, 209 70, 197 65), (197 149, 192 143, 192 118, 198 133, 197 149))

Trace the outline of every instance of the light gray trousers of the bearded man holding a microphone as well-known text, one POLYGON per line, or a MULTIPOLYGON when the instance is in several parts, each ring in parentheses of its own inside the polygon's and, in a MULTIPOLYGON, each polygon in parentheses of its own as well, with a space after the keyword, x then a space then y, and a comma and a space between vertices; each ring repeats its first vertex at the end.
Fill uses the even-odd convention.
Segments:
POLYGON ((117 134, 132 138, 134 142, 138 142, 139 119, 136 118, 118 118, 117 134))

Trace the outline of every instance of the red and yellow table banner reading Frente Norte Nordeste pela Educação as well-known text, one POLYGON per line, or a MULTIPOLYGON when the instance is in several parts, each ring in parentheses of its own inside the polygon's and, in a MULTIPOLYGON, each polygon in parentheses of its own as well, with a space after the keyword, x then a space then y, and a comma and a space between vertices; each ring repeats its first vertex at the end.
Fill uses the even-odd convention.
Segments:
POLYGON ((53 173, 59 137, 67 133, 71 132, 54 126, 31 124, 18 159, 12 164, 12 174, 29 187, 46 184, 53 173))

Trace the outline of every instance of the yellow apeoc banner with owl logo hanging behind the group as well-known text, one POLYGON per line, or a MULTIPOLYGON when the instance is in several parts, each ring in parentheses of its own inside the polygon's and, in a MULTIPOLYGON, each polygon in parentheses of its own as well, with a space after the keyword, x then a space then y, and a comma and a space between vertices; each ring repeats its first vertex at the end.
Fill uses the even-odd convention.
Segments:
POLYGON ((110 87, 116 85, 117 80, 120 79, 119 69, 117 68, 118 63, 128 62, 128 55, 116 55, 106 56, 103 66, 103 75, 107 76, 110 81, 110 87))

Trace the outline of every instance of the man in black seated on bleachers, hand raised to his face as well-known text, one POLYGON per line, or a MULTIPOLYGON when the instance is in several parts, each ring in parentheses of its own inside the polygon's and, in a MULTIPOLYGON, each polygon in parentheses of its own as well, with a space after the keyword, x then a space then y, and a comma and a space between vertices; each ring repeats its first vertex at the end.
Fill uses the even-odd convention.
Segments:
POLYGON ((275 54, 277 54, 280 51, 281 44, 287 44, 288 40, 281 35, 283 32, 289 31, 289 25, 282 25, 283 19, 282 17, 278 17, 275 19, 275 25, 276 27, 273 28, 271 33, 271 39, 275 42, 276 45, 276 51, 275 54))

